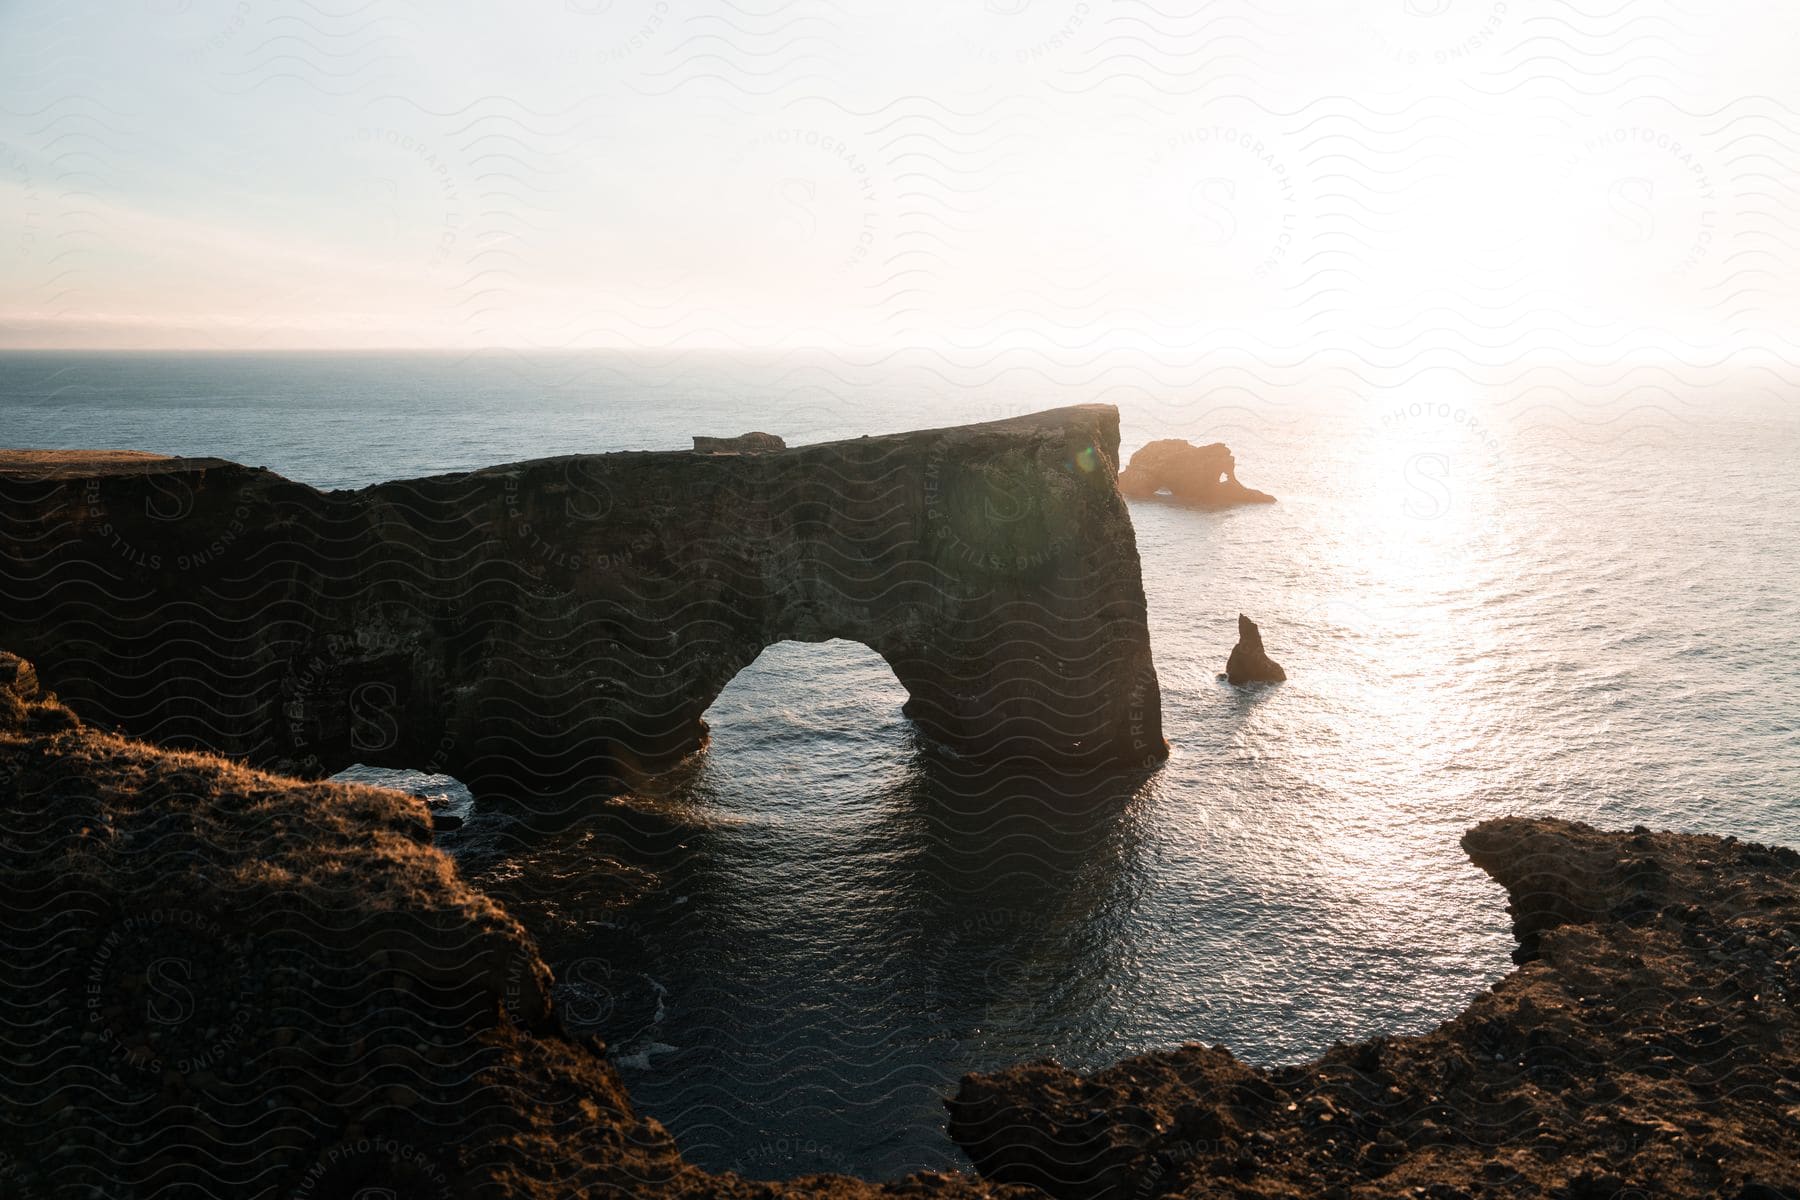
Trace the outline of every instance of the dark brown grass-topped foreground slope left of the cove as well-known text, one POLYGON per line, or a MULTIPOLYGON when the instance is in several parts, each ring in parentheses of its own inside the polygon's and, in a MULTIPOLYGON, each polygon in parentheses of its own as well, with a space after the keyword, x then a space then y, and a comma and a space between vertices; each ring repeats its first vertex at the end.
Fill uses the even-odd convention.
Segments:
POLYGON ((425 804, 85 729, 0 653, 0 1196, 1015 1195, 682 1162, 425 804))

